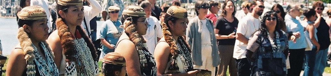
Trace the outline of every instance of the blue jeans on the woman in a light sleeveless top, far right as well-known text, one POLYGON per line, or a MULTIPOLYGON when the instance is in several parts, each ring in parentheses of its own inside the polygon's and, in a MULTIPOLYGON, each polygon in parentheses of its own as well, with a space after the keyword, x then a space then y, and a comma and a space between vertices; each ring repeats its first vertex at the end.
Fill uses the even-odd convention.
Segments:
POLYGON ((316 47, 313 47, 311 51, 305 51, 305 72, 303 76, 313 76, 315 58, 316 58, 316 47))

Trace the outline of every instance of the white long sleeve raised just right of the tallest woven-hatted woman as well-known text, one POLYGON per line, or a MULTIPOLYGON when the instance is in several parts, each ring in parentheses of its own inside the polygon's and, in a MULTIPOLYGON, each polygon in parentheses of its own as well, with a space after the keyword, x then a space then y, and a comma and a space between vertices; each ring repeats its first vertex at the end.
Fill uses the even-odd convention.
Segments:
POLYGON ((86 28, 84 20, 82 21, 82 24, 81 24, 81 27, 86 31, 86 35, 88 37, 90 37, 89 35, 91 35, 90 21, 92 20, 92 18, 99 15, 99 13, 102 11, 101 5, 97 1, 89 0, 89 2, 91 4, 90 5, 91 7, 83 6, 84 7, 84 17, 86 20, 86 26, 88 28, 86 28), (87 34, 87 33, 89 33, 89 34, 87 34))

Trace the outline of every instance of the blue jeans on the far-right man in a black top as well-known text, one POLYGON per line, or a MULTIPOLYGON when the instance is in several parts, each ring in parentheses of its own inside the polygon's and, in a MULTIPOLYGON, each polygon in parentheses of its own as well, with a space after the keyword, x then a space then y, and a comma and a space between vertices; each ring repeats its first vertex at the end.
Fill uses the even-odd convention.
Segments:
POLYGON ((316 59, 315 59, 315 68, 314 68, 314 76, 322 76, 324 72, 324 68, 326 66, 326 61, 327 61, 327 55, 328 55, 328 48, 326 49, 321 49, 319 52, 316 54, 316 59))

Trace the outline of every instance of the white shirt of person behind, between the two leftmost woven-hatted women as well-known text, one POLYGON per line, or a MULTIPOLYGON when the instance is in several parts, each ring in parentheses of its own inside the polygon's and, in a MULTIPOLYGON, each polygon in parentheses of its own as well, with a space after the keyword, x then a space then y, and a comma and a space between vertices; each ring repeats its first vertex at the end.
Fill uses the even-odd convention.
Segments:
MULTIPOLYGON (((49 12, 49 9, 48 9, 48 0, 30 0, 30 6, 40 6, 41 8, 43 8, 46 12, 46 15, 47 15, 47 19, 48 19, 48 23, 47 23, 47 26, 49 29, 51 29, 51 20, 50 19, 50 16, 51 16, 51 12, 49 12)), ((51 30, 48 30, 48 33, 51 32, 51 30)))

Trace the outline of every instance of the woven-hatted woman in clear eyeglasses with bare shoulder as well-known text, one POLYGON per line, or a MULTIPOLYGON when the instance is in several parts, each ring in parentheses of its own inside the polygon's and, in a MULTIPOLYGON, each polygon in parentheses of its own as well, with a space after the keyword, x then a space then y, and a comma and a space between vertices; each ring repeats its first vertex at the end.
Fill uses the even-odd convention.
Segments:
POLYGON ((124 32, 118 39, 115 52, 125 58, 128 76, 155 76, 156 63, 154 56, 147 50, 146 13, 139 6, 127 6, 122 13, 124 32))

